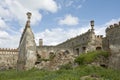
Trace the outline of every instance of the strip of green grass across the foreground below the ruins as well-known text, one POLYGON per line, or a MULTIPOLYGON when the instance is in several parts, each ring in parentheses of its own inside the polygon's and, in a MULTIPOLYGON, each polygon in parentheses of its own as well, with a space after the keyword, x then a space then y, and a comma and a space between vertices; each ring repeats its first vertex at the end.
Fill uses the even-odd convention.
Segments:
POLYGON ((16 70, 0 72, 0 80, 80 80, 80 77, 96 74, 104 80, 120 80, 120 70, 82 65, 75 69, 45 71, 32 69, 17 72, 16 70))

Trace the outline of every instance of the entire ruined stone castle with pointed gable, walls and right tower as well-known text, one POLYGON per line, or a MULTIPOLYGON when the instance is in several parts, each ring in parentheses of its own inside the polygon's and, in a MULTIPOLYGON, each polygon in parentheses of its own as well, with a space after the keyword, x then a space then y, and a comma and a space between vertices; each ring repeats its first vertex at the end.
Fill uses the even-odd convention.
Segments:
POLYGON ((53 65, 62 65, 73 60, 72 56, 89 51, 105 50, 110 52, 109 67, 120 69, 120 22, 106 28, 106 37, 95 34, 92 20, 90 22, 91 29, 86 33, 55 46, 45 46, 43 39, 39 39, 39 46, 36 46, 30 26, 31 15, 30 12, 27 13, 28 20, 20 38, 19 47, 17 49, 0 49, 0 68, 29 70, 33 67, 40 68, 43 65, 47 67, 52 65, 52 68, 55 68, 53 65), (39 61, 39 59, 50 59, 51 55, 57 55, 54 61, 46 62, 48 64, 39 61))

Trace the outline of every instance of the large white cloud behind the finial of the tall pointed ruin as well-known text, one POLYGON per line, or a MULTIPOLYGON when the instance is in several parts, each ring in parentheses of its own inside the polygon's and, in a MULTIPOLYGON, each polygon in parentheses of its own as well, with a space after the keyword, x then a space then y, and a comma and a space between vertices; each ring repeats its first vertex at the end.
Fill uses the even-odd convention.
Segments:
POLYGON ((16 19, 23 26, 26 21, 26 12, 33 14, 32 24, 40 21, 42 18, 40 10, 57 12, 58 5, 54 0, 2 0, 0 1, 0 16, 5 19, 16 19))

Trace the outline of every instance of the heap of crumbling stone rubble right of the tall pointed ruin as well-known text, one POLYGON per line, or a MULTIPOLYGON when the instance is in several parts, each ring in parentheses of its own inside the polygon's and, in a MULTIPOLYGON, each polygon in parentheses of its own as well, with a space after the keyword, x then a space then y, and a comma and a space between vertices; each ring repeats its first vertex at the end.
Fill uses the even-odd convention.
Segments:
POLYGON ((62 65, 74 63, 74 55, 69 51, 60 50, 49 61, 41 61, 36 65, 38 69, 59 70, 62 65))

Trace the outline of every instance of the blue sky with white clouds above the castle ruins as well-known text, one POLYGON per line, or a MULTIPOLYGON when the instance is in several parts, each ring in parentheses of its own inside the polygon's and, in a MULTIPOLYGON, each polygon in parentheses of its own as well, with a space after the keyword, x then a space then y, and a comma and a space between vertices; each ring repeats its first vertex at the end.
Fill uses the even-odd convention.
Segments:
POLYGON ((0 0, 0 48, 17 48, 27 16, 36 44, 57 45, 90 29, 105 36, 105 29, 120 21, 120 0, 0 0))

